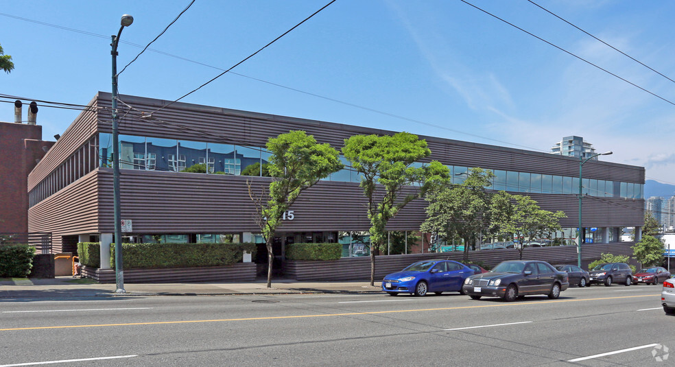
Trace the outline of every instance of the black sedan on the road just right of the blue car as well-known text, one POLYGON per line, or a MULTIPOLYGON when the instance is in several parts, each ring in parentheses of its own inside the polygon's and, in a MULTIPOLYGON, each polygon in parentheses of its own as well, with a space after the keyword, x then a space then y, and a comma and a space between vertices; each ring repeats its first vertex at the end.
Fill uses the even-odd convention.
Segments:
POLYGON ((558 298, 567 287, 567 273, 558 272, 545 261, 503 261, 491 272, 466 278, 462 289, 475 300, 486 296, 510 302, 531 294, 558 298))

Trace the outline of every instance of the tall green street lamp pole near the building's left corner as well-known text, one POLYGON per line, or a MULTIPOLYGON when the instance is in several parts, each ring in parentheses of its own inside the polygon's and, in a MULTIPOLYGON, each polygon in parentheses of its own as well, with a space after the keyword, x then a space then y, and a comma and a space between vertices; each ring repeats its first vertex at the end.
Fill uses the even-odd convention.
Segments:
POLYGON ((122 271, 122 228, 119 214, 119 131, 117 123, 117 44, 122 29, 134 23, 134 17, 129 14, 122 16, 117 36, 112 37, 112 201, 113 220, 115 221, 115 293, 126 293, 124 290, 124 273, 122 271))

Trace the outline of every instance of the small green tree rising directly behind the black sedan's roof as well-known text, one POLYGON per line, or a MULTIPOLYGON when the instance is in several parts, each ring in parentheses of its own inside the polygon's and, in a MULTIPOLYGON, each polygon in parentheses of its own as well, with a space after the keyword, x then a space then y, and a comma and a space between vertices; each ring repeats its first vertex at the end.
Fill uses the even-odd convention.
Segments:
POLYGON ((493 198, 491 228, 508 239, 518 239, 519 259, 523 259, 523 248, 532 241, 551 237, 550 233, 561 230, 562 211, 545 211, 529 196, 511 195, 499 191, 493 198))

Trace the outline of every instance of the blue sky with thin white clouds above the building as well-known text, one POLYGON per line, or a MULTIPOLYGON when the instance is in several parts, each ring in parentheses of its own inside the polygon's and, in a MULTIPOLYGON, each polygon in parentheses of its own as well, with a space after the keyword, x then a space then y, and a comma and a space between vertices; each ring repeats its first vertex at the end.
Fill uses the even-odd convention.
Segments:
MULTIPOLYGON (((197 0, 150 46, 191 61, 145 51, 119 75, 119 92, 177 99, 328 2, 197 0)), ((469 2, 667 101, 458 0, 337 0, 182 101, 542 152, 578 135, 614 152, 603 160, 675 183, 675 82, 530 1, 469 2)), ((675 80, 674 2, 534 2, 675 80)), ((122 14, 134 16, 122 42, 145 46, 188 4, 0 0, 0 45, 16 66, 0 73, 0 93, 86 104, 110 91, 122 14)), ((140 51, 121 43, 118 71, 140 51)), ((77 115, 40 108, 43 137, 77 115)), ((0 121, 13 119, 0 103, 0 121)))

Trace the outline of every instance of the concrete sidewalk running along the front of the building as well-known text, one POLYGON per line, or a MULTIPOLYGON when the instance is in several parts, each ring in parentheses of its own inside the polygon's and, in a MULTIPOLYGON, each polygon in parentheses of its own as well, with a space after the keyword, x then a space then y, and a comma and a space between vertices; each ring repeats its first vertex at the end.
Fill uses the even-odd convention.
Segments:
POLYGON ((7 298, 64 298, 91 296, 216 296, 243 294, 361 294, 381 292, 379 283, 297 282, 289 279, 261 279, 250 283, 126 283, 125 294, 115 294, 115 284, 78 283, 79 278, 0 281, 0 301, 7 298))

